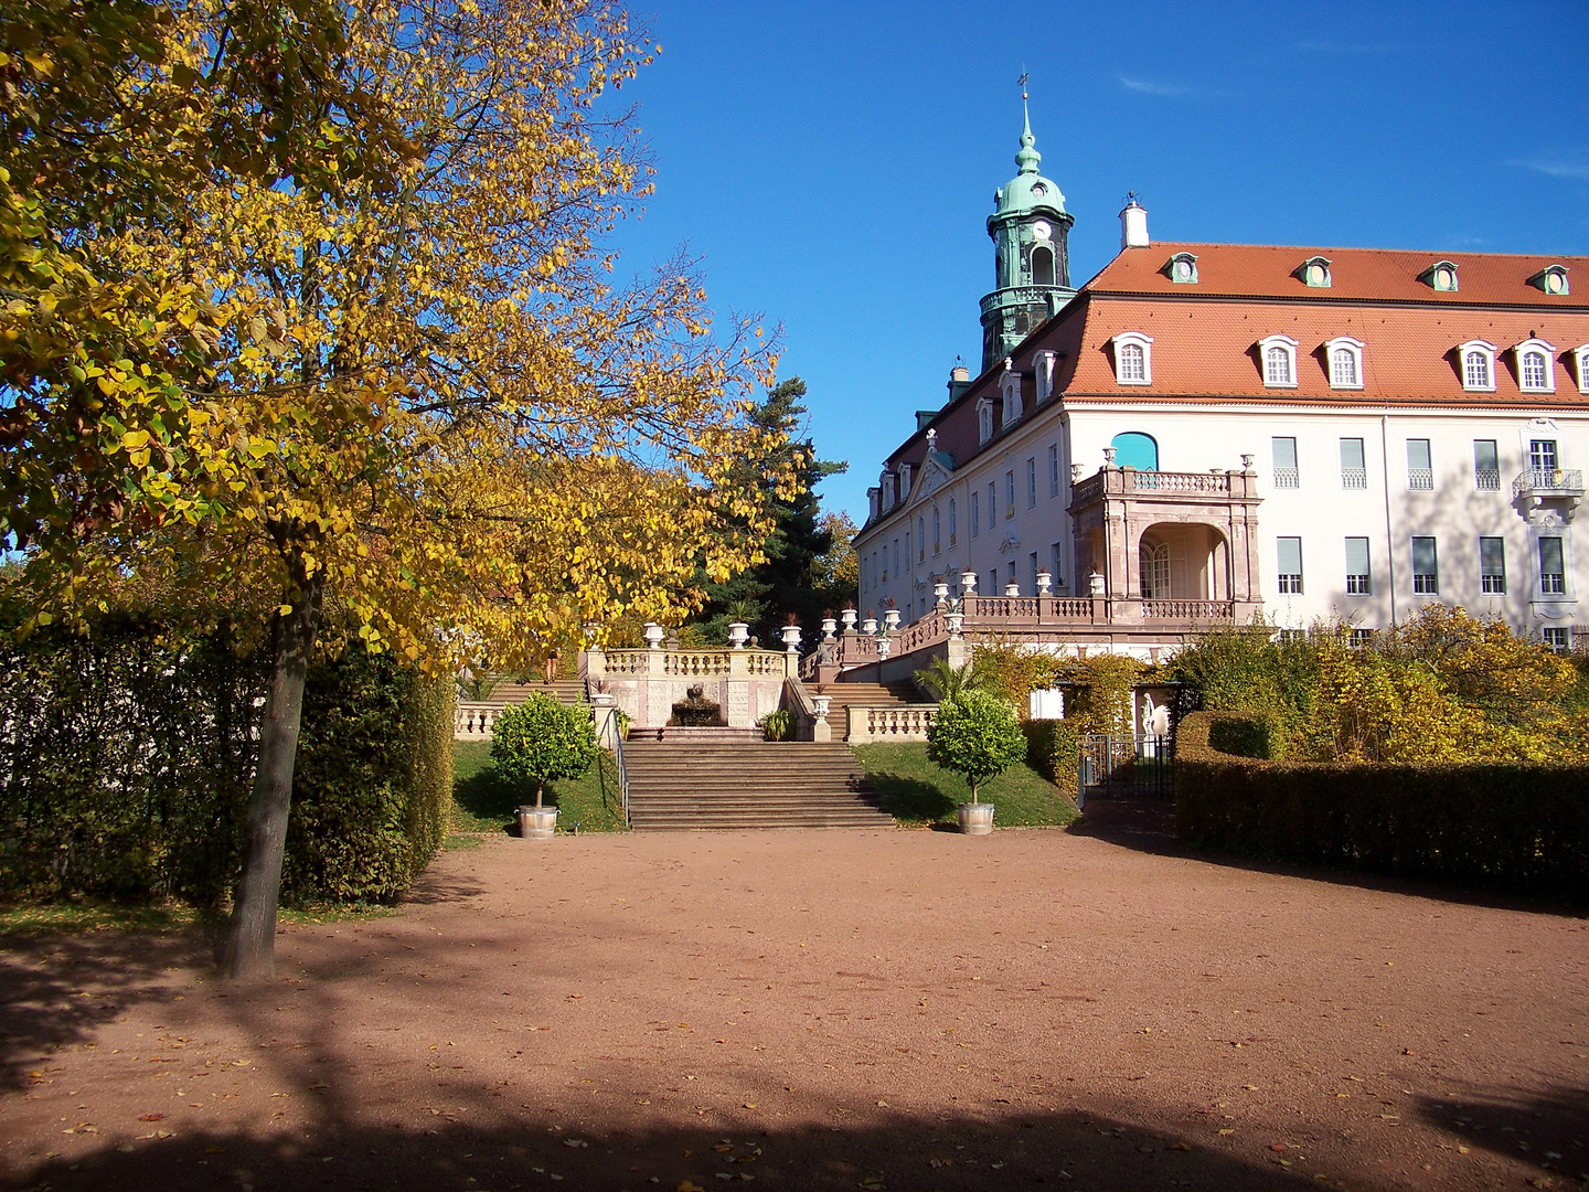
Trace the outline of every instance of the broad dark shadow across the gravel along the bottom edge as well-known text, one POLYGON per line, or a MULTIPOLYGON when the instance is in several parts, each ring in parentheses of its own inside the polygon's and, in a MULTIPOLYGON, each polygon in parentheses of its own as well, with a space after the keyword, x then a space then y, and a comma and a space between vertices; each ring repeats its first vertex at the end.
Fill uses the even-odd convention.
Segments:
MULTIPOLYGON (((505 1105, 507 1098, 501 1098, 505 1105)), ((501 1106, 499 1106, 501 1108, 501 1106)), ((25 1176, 56 1192, 143 1189, 434 1187, 706 1189, 756 1181, 775 1189, 1316 1187, 1303 1168, 1206 1149, 1176 1133, 1101 1114, 1022 1113, 995 1119, 899 1116, 869 1128, 661 1125, 604 1130, 558 1124, 547 1111, 477 1127, 459 1113, 413 1125, 324 1120, 276 1138, 240 1132, 114 1140, 46 1160, 25 1176), (548 1179, 558 1181, 550 1184, 548 1179)), ((148 1132, 153 1135, 153 1128, 148 1132)), ((1290 1160, 1287 1160, 1290 1163, 1290 1160)))

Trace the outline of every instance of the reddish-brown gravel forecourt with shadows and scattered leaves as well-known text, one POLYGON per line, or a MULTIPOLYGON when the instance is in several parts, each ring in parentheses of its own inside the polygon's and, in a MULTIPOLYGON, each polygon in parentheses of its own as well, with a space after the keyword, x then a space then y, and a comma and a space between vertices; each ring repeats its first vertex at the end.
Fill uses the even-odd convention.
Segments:
POLYGON ((0 952, 0 1184, 1589 1179, 1589 925, 1084 831, 582 836, 391 919, 0 952))

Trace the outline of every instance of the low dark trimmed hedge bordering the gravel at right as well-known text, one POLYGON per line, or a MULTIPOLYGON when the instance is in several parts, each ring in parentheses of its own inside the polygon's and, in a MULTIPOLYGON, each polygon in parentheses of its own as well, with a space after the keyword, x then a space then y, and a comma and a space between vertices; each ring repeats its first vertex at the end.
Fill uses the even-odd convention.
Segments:
POLYGON ((1589 764, 1263 761, 1262 718, 1193 712, 1176 742, 1176 828, 1268 860, 1589 901, 1589 764))

